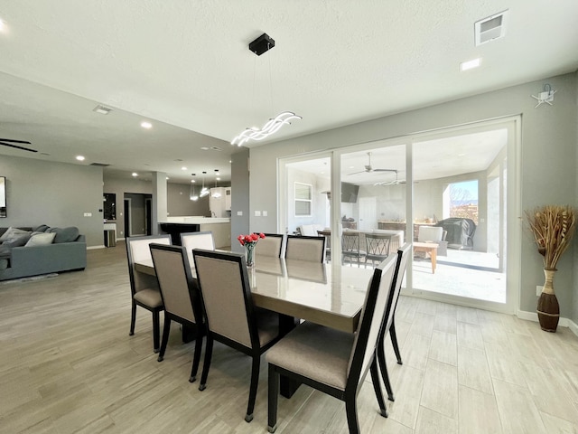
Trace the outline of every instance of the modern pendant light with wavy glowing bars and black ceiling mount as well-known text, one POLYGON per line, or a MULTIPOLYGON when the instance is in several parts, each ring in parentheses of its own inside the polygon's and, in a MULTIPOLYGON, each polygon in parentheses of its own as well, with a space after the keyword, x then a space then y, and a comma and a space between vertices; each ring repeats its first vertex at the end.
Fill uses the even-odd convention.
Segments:
MULTIPOLYGON (((249 50, 254 52, 257 56, 260 56, 264 52, 268 52, 273 47, 275 47, 275 40, 271 38, 268 34, 263 33, 261 36, 256 38, 255 41, 249 43, 249 50)), ((271 60, 269 59, 269 86, 271 86, 271 60)), ((275 134, 279 128, 284 125, 291 125, 291 120, 301 119, 302 117, 294 114, 293 111, 283 111, 279 113, 275 118, 269 118, 266 124, 261 127, 250 127, 245 128, 237 137, 233 138, 231 145, 241 146, 249 140, 263 140, 266 137, 275 134)))

